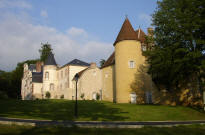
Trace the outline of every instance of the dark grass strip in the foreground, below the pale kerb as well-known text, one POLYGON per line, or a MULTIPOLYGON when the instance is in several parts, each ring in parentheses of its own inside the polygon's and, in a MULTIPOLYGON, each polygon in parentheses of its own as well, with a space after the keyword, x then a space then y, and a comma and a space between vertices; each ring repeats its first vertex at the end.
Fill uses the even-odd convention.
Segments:
POLYGON ((139 129, 103 129, 60 126, 0 125, 0 135, 204 135, 205 125, 178 127, 143 127, 139 129))

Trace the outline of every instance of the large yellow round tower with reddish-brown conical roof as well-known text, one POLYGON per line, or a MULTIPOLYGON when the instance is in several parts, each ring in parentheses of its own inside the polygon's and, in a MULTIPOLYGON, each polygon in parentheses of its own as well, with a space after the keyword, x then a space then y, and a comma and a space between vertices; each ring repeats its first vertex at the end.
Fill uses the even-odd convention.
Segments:
POLYGON ((130 102, 131 83, 134 81, 138 67, 144 63, 141 43, 128 18, 114 43, 115 47, 115 79, 116 102, 130 102))

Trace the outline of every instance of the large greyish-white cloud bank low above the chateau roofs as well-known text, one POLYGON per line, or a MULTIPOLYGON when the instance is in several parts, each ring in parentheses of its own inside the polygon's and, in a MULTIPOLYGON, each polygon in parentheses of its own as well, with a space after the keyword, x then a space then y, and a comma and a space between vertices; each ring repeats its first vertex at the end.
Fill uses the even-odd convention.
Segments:
POLYGON ((39 58, 41 43, 52 45, 58 64, 64 65, 74 58, 86 62, 99 62, 113 51, 111 43, 93 38, 84 40, 82 35, 91 37, 84 29, 71 27, 67 33, 53 27, 36 25, 31 21, 7 15, 0 18, 0 69, 13 70, 18 62, 39 58), (75 36, 75 38, 73 38, 75 36))

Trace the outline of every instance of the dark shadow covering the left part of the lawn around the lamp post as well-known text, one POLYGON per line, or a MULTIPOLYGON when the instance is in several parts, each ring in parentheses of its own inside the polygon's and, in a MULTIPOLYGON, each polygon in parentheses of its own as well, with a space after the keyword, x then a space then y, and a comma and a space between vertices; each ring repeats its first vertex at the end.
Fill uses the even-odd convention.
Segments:
POLYGON ((100 120, 123 121, 119 108, 113 108, 103 102, 78 101, 78 119, 74 117, 74 101, 68 100, 1 100, 0 116, 26 119, 49 120, 100 120))

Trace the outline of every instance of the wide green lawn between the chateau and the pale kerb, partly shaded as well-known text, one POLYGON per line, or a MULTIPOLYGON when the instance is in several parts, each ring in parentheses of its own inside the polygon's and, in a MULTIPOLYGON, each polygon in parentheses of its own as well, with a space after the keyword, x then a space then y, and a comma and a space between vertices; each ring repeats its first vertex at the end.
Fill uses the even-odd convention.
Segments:
POLYGON ((80 121, 205 120, 205 113, 182 106, 114 104, 79 101, 79 118, 74 118, 74 101, 0 100, 0 117, 80 121))

